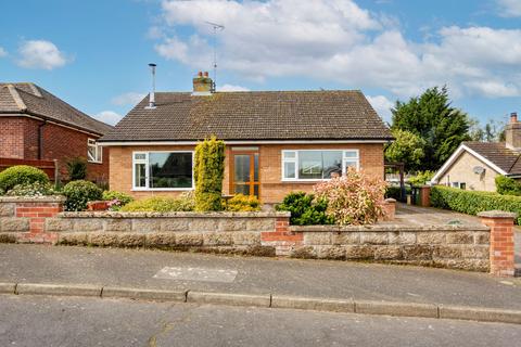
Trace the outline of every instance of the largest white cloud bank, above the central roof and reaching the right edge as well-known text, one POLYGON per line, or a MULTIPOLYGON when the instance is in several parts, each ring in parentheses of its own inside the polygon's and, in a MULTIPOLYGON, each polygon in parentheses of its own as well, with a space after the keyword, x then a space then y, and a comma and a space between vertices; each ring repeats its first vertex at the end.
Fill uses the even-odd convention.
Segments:
POLYGON ((353 0, 165 0, 162 10, 164 33, 193 33, 160 39, 157 53, 194 69, 212 66, 205 18, 226 26, 217 34, 219 69, 250 80, 303 76, 399 98, 443 85, 456 98, 521 95, 520 29, 452 26, 410 41, 353 0))

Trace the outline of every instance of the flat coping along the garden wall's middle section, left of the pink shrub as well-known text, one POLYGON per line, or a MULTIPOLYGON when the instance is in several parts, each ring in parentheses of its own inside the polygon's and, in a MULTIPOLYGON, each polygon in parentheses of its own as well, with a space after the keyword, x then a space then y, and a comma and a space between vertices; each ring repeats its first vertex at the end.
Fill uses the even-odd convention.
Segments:
POLYGON ((65 211, 58 214, 62 218, 289 218, 285 211, 177 211, 177 213, 120 213, 120 211, 65 211))

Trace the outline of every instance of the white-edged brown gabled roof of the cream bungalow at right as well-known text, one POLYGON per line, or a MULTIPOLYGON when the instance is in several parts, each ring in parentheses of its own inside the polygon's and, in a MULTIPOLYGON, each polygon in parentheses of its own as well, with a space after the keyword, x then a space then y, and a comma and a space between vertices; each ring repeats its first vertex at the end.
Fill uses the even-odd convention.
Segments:
MULTIPOLYGON (((505 176, 521 175, 521 153, 508 149, 505 142, 466 141, 445 162, 432 180, 437 182, 463 152, 470 153, 497 174, 505 176)), ((472 168, 469 167, 469 170, 472 170, 472 168)))

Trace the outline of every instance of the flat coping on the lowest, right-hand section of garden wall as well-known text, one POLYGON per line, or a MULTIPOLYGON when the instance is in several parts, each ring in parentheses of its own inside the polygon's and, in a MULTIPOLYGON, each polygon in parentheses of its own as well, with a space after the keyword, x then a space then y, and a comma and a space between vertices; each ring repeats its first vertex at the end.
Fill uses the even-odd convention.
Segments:
POLYGON ((483 224, 432 224, 432 226, 403 226, 403 224, 372 224, 372 226, 290 226, 292 232, 390 232, 390 231, 490 231, 483 224))

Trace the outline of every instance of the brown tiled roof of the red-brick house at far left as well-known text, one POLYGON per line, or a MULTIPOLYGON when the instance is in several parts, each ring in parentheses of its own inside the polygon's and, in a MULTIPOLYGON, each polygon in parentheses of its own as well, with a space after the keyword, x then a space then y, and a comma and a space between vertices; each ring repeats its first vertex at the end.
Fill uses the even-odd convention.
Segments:
POLYGON ((5 114, 31 115, 100 136, 113 128, 30 82, 0 82, 0 117, 5 114))

